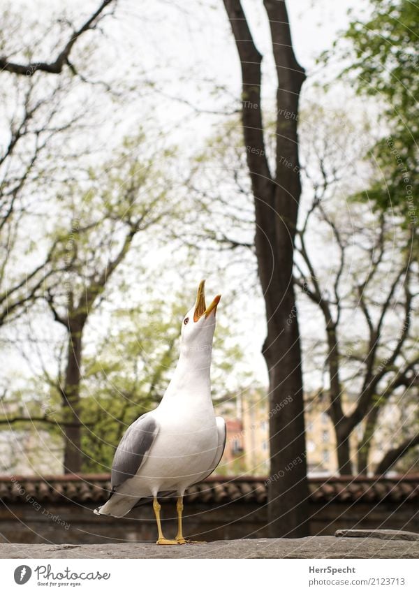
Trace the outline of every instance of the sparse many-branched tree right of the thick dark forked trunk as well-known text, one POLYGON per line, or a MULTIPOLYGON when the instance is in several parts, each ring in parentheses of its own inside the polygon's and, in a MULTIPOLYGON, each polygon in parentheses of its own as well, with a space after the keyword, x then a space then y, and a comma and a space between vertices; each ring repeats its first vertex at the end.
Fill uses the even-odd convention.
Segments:
MULTIPOLYGON (((417 254, 413 229, 402 224, 402 217, 387 210, 372 216, 369 205, 353 196, 345 208, 339 206, 341 195, 351 196, 359 184, 360 124, 357 129, 344 112, 325 117, 324 109, 317 108, 316 115, 314 106, 310 115, 302 125, 304 184, 310 199, 297 230, 295 283, 301 298, 315 305, 305 316, 321 320, 324 337, 316 332, 310 343, 304 336, 305 358, 323 369, 318 395, 325 398, 335 428, 339 472, 353 474, 358 466, 358 473, 365 474, 372 468, 369 455, 383 411, 406 406, 417 393, 417 254), (350 440, 356 427, 362 428, 362 436, 355 464, 350 440)), ((414 427, 409 430, 413 432, 407 438, 402 438, 403 422, 393 430, 388 451, 374 468, 378 473, 416 446, 414 427)))

